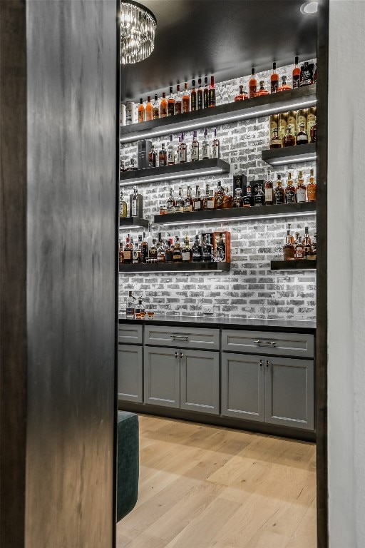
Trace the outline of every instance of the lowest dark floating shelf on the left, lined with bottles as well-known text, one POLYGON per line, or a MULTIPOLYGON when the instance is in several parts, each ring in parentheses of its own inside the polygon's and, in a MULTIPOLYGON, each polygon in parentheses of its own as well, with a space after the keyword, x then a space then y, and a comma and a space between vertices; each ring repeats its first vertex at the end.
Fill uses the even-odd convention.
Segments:
POLYGON ((142 274, 145 272, 229 272, 230 263, 148 263, 119 265, 119 272, 142 274))

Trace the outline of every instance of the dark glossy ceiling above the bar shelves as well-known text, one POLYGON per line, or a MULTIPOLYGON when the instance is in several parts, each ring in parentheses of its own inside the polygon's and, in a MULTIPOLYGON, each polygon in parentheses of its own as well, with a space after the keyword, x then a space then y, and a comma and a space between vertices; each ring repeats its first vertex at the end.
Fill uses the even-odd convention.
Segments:
POLYGON ((247 76, 316 56, 317 14, 300 11, 304 0, 140 0, 156 16, 155 50, 121 67, 122 101, 145 100, 169 86, 215 75, 247 76))

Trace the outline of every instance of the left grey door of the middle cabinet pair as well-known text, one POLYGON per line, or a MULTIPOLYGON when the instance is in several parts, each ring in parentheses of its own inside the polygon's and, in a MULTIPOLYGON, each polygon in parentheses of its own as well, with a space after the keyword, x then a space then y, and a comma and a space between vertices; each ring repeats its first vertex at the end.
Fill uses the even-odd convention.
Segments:
POLYGON ((180 350, 144 348, 144 402, 180 407, 180 350))

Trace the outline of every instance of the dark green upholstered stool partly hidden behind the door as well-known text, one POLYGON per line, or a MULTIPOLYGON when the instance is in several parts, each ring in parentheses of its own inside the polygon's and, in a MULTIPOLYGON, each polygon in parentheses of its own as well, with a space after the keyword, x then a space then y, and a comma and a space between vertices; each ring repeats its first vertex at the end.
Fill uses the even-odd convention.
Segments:
POLYGON ((117 522, 135 507, 138 499, 138 415, 118 411, 117 419, 117 522))

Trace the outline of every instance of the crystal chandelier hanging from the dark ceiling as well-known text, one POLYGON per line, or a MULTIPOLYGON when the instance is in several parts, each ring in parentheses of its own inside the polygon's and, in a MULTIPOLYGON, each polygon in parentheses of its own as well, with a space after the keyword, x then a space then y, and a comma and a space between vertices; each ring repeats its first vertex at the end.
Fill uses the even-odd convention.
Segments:
POLYGON ((120 63, 138 63, 155 47, 156 18, 152 11, 132 0, 120 2, 120 63))

